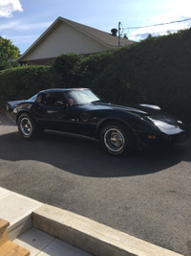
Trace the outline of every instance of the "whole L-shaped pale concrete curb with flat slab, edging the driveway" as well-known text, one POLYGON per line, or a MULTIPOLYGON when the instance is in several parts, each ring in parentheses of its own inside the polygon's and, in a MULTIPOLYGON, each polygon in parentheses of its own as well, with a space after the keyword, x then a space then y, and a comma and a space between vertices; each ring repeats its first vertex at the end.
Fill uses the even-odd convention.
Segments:
POLYGON ((181 255, 104 224, 43 204, 1 187, 0 218, 11 223, 9 226, 11 240, 16 239, 33 226, 93 255, 181 255))

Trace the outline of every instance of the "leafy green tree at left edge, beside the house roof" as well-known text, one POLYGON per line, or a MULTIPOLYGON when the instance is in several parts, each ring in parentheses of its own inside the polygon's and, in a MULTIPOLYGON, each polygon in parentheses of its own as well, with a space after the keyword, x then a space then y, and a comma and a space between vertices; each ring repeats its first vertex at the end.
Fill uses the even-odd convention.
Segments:
POLYGON ((0 36, 0 70, 8 69, 17 64, 11 60, 19 57, 19 49, 11 43, 11 40, 0 36))

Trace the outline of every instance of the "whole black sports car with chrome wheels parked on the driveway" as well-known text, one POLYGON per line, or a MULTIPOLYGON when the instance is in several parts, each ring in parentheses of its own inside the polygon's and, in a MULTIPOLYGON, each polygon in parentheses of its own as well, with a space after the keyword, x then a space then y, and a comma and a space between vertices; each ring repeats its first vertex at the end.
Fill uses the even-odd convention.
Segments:
POLYGON ((157 105, 128 107, 102 103, 87 88, 48 89, 26 101, 7 103, 7 114, 23 138, 44 129, 81 134, 100 140, 112 154, 160 142, 181 142, 189 129, 157 105))

